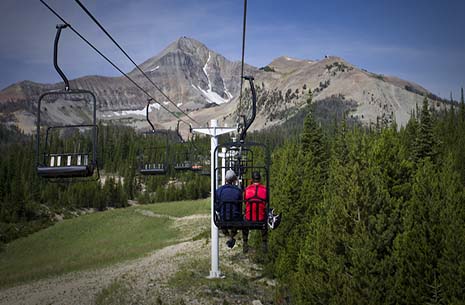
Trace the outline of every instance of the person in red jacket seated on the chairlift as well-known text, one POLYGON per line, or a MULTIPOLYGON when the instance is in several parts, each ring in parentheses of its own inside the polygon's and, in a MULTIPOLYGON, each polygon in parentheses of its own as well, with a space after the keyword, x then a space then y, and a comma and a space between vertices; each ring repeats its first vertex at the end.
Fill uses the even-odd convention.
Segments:
MULTIPOLYGON (((266 187, 260 183, 260 172, 252 173, 252 184, 246 187, 244 192, 245 214, 244 218, 247 221, 265 221, 266 217, 266 187)), ((268 230, 262 230, 262 249, 264 252, 268 249, 268 230)), ((244 241, 243 251, 249 251, 249 230, 242 230, 242 239, 244 241)))

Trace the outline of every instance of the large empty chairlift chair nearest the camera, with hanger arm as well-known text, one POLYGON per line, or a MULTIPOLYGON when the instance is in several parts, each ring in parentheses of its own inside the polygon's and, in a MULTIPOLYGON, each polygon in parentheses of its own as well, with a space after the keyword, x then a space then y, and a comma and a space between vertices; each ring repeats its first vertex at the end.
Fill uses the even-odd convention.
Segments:
MULTIPOLYGON (((50 179, 51 181, 68 180, 72 178, 76 181, 89 181, 99 179, 99 167, 97 160, 97 102, 94 93, 89 90, 71 89, 69 81, 63 71, 58 66, 58 42, 62 29, 67 28, 67 24, 59 24, 56 26, 57 32, 54 42, 53 62, 56 71, 63 79, 65 84, 64 90, 48 91, 40 95, 37 106, 37 135, 36 135, 36 169, 37 174, 42 178, 50 179), (50 100, 55 107, 61 100, 73 103, 70 109, 74 109, 77 120, 82 119, 82 107, 76 107, 77 101, 84 102, 84 108, 92 107, 92 117, 88 117, 91 123, 73 123, 66 125, 52 125, 50 121, 56 121, 56 118, 51 114, 52 111, 44 107, 43 102, 50 100), (73 105, 75 107, 73 107, 73 105), (42 124, 41 111, 47 111, 48 126, 45 130, 44 144, 41 143, 42 124), (81 117, 78 117, 78 114, 81 117), (86 130, 88 130, 86 132, 86 130), (77 136, 77 141, 71 145, 64 144, 66 139, 73 139, 69 134, 73 133, 77 136), (66 136, 68 134, 68 136, 66 136), (89 136, 90 141, 83 141, 84 136, 89 136), (56 139, 55 143, 52 139, 56 139)), ((65 106, 61 106, 65 108, 65 106)), ((74 116, 73 116, 74 118, 74 116)), ((55 123, 56 124, 56 123, 55 123)))

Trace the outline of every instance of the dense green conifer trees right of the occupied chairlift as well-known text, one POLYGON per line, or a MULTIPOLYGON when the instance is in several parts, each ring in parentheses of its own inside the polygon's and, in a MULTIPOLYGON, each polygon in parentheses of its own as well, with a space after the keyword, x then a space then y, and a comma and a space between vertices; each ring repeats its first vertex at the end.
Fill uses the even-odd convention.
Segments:
POLYGON ((464 304, 465 104, 405 128, 327 132, 274 152, 269 272, 285 304, 464 304))

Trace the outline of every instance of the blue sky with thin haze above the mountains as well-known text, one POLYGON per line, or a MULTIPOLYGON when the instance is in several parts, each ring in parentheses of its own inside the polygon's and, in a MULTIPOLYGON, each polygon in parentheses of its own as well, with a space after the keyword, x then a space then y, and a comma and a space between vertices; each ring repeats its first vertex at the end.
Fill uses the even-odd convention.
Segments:
MULTIPOLYGON (((134 68, 75 1, 46 1, 124 71, 134 68)), ((136 63, 181 36, 240 60, 241 0, 81 2, 136 63)), ((57 23, 39 0, 0 1, 0 90, 22 80, 61 80, 52 61, 57 23)), ((464 0, 248 0, 245 57, 262 67, 284 55, 334 55, 458 99, 465 87, 464 32, 464 0)), ((70 79, 119 75, 70 30, 62 33, 59 61, 70 79)))

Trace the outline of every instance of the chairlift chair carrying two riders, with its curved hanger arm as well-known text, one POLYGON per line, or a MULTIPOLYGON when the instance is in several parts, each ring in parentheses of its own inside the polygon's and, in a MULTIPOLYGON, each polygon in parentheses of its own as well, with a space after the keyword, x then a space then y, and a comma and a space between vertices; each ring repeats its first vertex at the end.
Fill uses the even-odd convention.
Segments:
POLYGON ((251 86, 252 116, 249 120, 244 118, 244 125, 242 126, 239 141, 221 144, 215 148, 214 154, 216 157, 213 159, 215 162, 218 159, 219 153, 223 151, 225 152, 226 158, 224 166, 220 166, 216 163, 214 164, 215 175, 221 176, 229 169, 234 170, 238 177, 239 187, 244 190, 251 184, 252 173, 257 171, 261 174, 261 183, 266 188, 266 196, 265 198, 257 198, 255 195, 254 197, 248 198, 248 200, 243 199, 240 202, 222 201, 221 198, 218 198, 218 181, 213 181, 215 190, 213 194, 215 203, 213 220, 219 229, 267 230, 267 220, 270 214, 270 152, 268 147, 262 143, 245 141, 247 130, 255 119, 257 97, 253 77, 246 76, 244 79, 248 80, 251 86), (254 160, 254 156, 258 155, 262 155, 264 158, 262 160, 254 160), (240 218, 234 217, 233 205, 239 207, 241 211, 240 218), (247 205, 249 206, 248 209, 246 209, 247 205), (263 205, 265 206, 264 211, 263 205), (246 211, 248 211, 249 214, 246 214, 246 211), (263 217, 259 218, 257 215, 263 215, 263 217))

